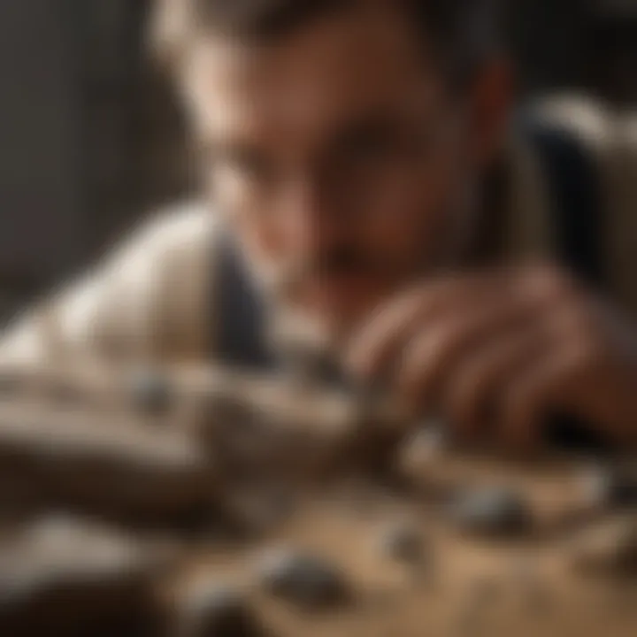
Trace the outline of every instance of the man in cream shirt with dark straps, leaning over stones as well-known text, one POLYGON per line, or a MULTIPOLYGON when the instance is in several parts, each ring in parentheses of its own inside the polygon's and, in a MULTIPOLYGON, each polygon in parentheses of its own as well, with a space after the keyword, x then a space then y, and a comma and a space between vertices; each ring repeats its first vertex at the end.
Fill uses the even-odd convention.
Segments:
MULTIPOLYGON (((511 133, 487 2, 180 0, 165 15, 211 204, 21 320, 5 361, 257 364, 283 346, 268 326, 311 325, 354 376, 460 436, 527 448, 564 413, 634 443, 634 214, 603 207, 604 292, 556 265, 559 191, 511 133)), ((615 139, 581 119, 588 146, 615 139)), ((616 146, 604 165, 630 201, 616 146)))

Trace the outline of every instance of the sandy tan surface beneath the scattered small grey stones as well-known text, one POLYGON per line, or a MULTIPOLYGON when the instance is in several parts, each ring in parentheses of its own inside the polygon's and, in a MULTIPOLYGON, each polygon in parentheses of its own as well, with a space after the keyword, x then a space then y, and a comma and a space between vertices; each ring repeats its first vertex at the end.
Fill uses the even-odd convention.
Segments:
POLYGON ((637 634, 637 579, 580 574, 571 551, 578 531, 479 540, 458 533, 418 497, 347 495, 343 489, 304 503, 254 545, 198 551, 184 573, 186 579, 219 579, 245 589, 258 616, 280 637, 637 634), (429 556, 422 566, 396 563, 380 550, 383 530, 404 519, 422 536, 429 556), (349 581, 352 601, 307 613, 259 592, 255 556, 280 546, 334 564, 349 581))

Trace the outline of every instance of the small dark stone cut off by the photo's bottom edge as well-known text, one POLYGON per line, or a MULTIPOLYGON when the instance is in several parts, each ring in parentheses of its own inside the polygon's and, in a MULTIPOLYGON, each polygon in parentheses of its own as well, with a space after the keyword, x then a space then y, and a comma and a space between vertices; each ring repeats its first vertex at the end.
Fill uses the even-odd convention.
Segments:
POLYGON ((181 608, 180 637, 253 637, 261 631, 244 596, 218 582, 199 584, 181 608))

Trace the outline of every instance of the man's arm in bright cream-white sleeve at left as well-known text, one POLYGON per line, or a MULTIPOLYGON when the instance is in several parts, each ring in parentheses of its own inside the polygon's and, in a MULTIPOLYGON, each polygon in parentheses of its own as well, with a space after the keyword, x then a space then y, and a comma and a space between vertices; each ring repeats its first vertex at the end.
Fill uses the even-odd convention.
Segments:
POLYGON ((199 206, 160 215, 0 337, 0 365, 195 357, 213 224, 199 206))

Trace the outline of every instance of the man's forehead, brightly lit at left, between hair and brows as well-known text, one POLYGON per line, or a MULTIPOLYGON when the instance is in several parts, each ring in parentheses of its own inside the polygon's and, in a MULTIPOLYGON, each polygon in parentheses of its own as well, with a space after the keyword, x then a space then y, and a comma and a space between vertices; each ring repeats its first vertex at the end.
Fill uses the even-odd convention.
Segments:
POLYGON ((203 134, 318 130, 365 109, 390 109, 406 95, 426 101, 435 84, 403 15, 372 4, 267 44, 199 38, 187 72, 203 134))

